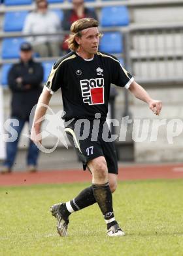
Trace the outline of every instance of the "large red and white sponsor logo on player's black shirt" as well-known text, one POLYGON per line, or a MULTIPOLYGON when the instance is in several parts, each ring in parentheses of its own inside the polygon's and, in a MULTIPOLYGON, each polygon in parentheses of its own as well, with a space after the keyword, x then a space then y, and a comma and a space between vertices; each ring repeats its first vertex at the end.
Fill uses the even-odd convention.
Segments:
POLYGON ((104 104, 104 79, 80 80, 83 102, 88 105, 104 104))

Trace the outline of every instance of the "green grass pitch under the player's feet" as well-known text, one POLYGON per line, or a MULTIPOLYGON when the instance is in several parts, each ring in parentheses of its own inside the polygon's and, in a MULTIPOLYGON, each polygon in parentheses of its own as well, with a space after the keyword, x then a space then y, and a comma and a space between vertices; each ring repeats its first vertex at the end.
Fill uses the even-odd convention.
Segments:
POLYGON ((1 187, 0 255, 183 255, 183 180, 119 182, 114 212, 124 237, 107 238, 92 205, 71 215, 69 236, 60 238, 49 207, 86 186, 1 187))

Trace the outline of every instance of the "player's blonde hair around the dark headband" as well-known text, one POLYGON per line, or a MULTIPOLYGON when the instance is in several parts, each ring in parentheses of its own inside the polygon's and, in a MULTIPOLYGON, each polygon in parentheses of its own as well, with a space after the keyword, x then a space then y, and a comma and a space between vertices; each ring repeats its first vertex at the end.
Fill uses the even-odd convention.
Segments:
POLYGON ((69 49, 71 51, 76 51, 78 49, 79 45, 76 42, 75 37, 81 37, 82 30, 93 27, 97 28, 98 26, 99 22, 97 22, 97 20, 95 20, 94 18, 80 18, 80 20, 76 20, 75 22, 73 22, 73 24, 71 25, 71 34, 66 40, 69 49))

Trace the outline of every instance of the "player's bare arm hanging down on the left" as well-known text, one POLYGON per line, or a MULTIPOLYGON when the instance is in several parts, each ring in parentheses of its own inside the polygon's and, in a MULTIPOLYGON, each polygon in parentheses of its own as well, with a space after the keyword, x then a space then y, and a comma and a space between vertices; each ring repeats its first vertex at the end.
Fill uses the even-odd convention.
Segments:
POLYGON ((50 102, 50 98, 52 97, 50 91, 44 87, 42 90, 42 93, 39 97, 38 103, 37 103, 37 108, 35 110, 35 117, 33 120, 33 126, 31 129, 31 140, 35 143, 41 143, 41 123, 42 121, 38 121, 41 119, 46 114, 47 108, 42 106, 42 104, 45 104, 48 106, 50 102))

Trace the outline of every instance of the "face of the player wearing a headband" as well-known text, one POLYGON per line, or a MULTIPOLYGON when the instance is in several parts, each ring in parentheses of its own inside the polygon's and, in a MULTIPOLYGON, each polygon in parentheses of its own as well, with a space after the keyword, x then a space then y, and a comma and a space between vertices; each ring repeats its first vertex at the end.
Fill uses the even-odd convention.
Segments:
POLYGON ((79 52, 91 58, 98 51, 100 36, 101 33, 99 33, 98 28, 82 30, 82 36, 78 37, 79 52))

